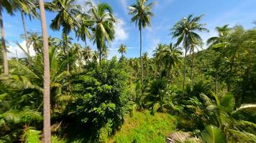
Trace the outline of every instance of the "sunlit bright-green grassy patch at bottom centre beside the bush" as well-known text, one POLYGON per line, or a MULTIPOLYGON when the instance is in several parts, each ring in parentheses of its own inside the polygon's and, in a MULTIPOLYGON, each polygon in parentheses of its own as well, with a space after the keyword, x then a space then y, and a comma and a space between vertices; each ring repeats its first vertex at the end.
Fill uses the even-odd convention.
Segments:
POLYGON ((175 117, 170 114, 156 113, 152 116, 149 111, 137 112, 134 117, 125 118, 119 132, 109 138, 109 142, 165 142, 167 135, 175 129, 175 117))

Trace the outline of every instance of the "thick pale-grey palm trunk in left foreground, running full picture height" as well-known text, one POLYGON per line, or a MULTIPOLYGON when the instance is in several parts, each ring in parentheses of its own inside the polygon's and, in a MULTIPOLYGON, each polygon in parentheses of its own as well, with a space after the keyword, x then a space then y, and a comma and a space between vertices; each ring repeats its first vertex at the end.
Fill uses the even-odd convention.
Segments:
POLYGON ((43 142, 51 142, 50 132, 50 59, 47 37, 47 24, 45 19, 44 1, 39 0, 41 24, 42 24, 42 40, 43 40, 43 56, 44 56, 44 127, 43 127, 43 142))

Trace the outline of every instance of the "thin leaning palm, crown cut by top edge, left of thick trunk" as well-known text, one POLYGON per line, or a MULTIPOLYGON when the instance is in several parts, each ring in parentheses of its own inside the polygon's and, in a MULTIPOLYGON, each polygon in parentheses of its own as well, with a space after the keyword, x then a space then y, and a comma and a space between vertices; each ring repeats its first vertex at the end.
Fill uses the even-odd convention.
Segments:
MULTIPOLYGON (((35 18, 38 16, 35 6, 34 0, 14 0, 16 9, 19 9, 20 14, 22 16, 22 24, 24 29, 24 38, 26 40, 26 46, 27 46, 27 54, 29 54, 29 41, 27 38, 27 28, 24 20, 24 15, 29 16, 29 19, 35 18)), ((30 62, 30 61, 29 61, 30 62)), ((31 64, 31 63, 30 63, 31 64)))

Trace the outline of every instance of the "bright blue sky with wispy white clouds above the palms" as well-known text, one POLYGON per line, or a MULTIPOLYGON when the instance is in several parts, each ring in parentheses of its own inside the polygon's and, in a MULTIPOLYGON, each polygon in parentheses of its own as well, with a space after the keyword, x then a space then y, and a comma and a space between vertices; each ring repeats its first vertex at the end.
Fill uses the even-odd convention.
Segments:
MULTIPOLYGON (((77 0, 78 4, 83 5, 86 0, 77 0)), ((140 56, 140 33, 134 23, 130 22, 131 16, 128 15, 127 6, 134 3, 135 0, 100 0, 100 2, 109 3, 114 9, 114 14, 119 19, 116 26, 116 39, 109 47, 110 57, 119 54, 117 53, 120 44, 127 45, 127 56, 140 56)), ((150 0, 152 1, 152 0, 150 0)), ((170 28, 173 24, 182 19, 188 14, 200 15, 205 14, 202 23, 206 24, 209 33, 201 33, 201 37, 208 39, 216 35, 214 27, 229 24, 234 26, 241 24, 246 29, 250 29, 255 25, 252 21, 256 20, 256 1, 255 0, 155 0, 152 17, 152 26, 142 31, 142 46, 143 52, 147 51, 152 55, 155 46, 158 43, 169 44, 175 42, 170 36, 170 28)), ((55 13, 47 12, 47 24, 55 17, 55 13)), ((38 19, 27 19, 27 29, 29 31, 41 31, 40 21, 38 19)), ((6 32, 6 40, 9 41, 9 51, 14 56, 17 46, 13 41, 18 41, 23 46, 24 39, 20 39, 20 34, 23 34, 22 21, 19 13, 15 16, 9 16, 4 12, 4 26, 6 32)), ((48 34, 51 36, 60 37, 60 31, 52 31, 48 26, 48 34)), ((73 33, 70 34, 75 39, 73 33)), ((76 41, 76 40, 75 40, 76 41)), ((79 41, 81 42, 81 41, 79 41)), ((83 43, 81 42, 83 45, 83 43)), ((90 44, 93 49, 96 46, 90 44)), ((22 56, 22 51, 18 49, 18 55, 22 56)))

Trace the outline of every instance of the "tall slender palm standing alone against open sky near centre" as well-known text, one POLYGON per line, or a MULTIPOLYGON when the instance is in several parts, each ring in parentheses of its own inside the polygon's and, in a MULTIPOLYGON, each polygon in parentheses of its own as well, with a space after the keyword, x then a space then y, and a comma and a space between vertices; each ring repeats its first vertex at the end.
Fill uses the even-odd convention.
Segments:
POLYGON ((132 15, 132 22, 139 26, 140 30, 140 66, 141 66, 141 80, 142 80, 142 94, 143 94, 143 62, 142 62, 142 28, 150 26, 150 17, 152 14, 153 3, 147 4, 148 0, 137 0, 136 4, 128 6, 129 14, 132 15))

